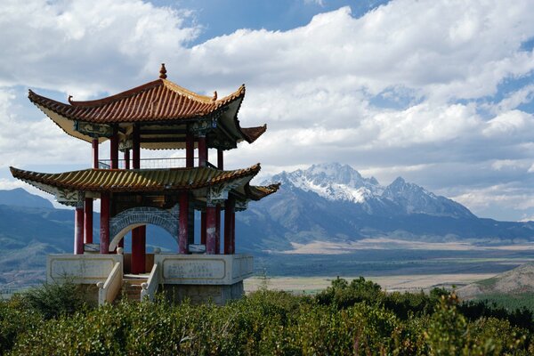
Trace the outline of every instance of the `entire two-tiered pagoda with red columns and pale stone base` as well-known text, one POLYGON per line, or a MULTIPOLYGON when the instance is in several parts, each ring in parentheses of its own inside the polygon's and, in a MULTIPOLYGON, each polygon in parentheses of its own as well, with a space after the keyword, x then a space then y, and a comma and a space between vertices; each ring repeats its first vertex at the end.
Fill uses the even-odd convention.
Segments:
POLYGON ((91 143, 93 153, 92 168, 84 170, 45 174, 11 167, 15 178, 75 207, 74 254, 48 255, 47 280, 72 280, 99 303, 113 302, 121 290, 136 300, 152 298, 158 287, 174 300, 187 297, 194 303, 239 298, 253 261, 235 254, 235 212, 279 189, 250 184, 259 164, 224 170, 225 150, 255 142, 266 130, 266 125, 241 127, 244 97, 245 85, 221 99, 217 92, 193 93, 167 80, 165 64, 157 80, 99 100, 69 96, 63 103, 30 90, 29 100, 66 134, 91 143), (100 159, 99 147, 106 142, 110 158, 100 159), (185 156, 141 158, 141 149, 185 150, 185 156), (208 158, 208 149, 216 156, 208 158), (195 236, 195 212, 200 212, 200 236, 195 236), (148 254, 147 224, 168 231, 175 250, 155 248, 148 254), (126 254, 130 231, 131 254, 126 254))

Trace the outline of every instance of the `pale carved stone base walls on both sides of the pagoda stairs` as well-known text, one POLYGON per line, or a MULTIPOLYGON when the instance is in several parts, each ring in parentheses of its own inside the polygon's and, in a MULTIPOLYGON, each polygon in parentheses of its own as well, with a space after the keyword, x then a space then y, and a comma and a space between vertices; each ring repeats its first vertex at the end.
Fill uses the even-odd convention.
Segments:
MULTIPOLYGON (((223 305, 244 295, 243 280, 253 274, 250 255, 148 255, 158 264, 158 284, 174 302, 189 299, 191 303, 223 305)), ((79 285, 93 285, 108 279, 116 263, 124 274, 128 255, 48 255, 48 282, 68 280, 79 285)), ((147 268, 150 271, 150 268, 147 268)), ((122 279, 121 279, 122 280, 122 279)), ((85 289, 84 289, 85 290, 85 289)), ((88 300, 95 298, 95 288, 86 288, 88 300), (92 295, 89 295, 92 294, 92 295)))

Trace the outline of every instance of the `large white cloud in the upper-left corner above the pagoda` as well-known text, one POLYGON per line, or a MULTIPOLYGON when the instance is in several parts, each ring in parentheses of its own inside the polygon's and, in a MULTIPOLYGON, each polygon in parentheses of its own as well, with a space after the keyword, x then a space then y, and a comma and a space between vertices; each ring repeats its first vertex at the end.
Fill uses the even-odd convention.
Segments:
POLYGON ((33 0, 0 6, 0 85, 27 85, 76 98, 131 85, 177 58, 197 28, 187 12, 141 0, 33 0))

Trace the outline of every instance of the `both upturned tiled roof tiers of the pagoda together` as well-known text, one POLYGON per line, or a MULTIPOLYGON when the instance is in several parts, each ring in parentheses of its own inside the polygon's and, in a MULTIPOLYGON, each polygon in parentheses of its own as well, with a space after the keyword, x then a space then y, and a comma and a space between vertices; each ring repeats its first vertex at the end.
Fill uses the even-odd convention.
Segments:
MULTIPOLYGON (((193 93, 166 79, 162 65, 157 80, 123 93, 93 101, 54 101, 29 91, 28 98, 67 134, 86 142, 105 142, 115 135, 121 150, 133 146, 134 129, 138 147, 166 150, 185 149, 191 132, 206 136, 207 148, 230 150, 237 143, 254 142, 266 125, 241 127, 238 112, 245 85, 217 98, 193 93)), ((198 142, 192 142, 197 148, 198 142)), ((199 190, 216 184, 231 185, 243 200, 258 200, 278 190, 278 185, 255 187, 249 181, 260 165, 223 171, 210 166, 166 169, 85 169, 61 174, 44 174, 12 167, 12 175, 55 194, 58 190, 93 192, 170 192, 199 190), (243 178, 247 179, 243 179, 243 178)), ((64 203, 67 203, 63 200, 64 203)))

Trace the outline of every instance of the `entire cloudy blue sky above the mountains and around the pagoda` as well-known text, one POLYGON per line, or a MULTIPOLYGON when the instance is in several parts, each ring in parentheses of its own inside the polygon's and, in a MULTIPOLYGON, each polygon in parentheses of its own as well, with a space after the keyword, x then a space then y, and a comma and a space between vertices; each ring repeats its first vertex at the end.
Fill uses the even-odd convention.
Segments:
POLYGON ((533 15, 532 0, 0 0, 0 189, 22 186, 9 166, 90 166, 28 88, 95 99, 165 62, 198 93, 247 85, 240 120, 268 131, 229 168, 337 161, 534 219, 533 15))

